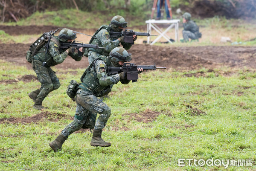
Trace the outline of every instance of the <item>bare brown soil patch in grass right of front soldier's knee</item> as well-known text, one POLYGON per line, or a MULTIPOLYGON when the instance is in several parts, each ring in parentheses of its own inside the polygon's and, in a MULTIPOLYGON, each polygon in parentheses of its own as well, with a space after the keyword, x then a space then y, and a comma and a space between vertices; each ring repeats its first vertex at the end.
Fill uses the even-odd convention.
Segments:
POLYGON ((127 113, 122 116, 128 115, 130 116, 129 119, 135 119, 138 122, 148 123, 152 122, 159 114, 160 112, 155 112, 150 109, 147 109, 142 113, 127 113))

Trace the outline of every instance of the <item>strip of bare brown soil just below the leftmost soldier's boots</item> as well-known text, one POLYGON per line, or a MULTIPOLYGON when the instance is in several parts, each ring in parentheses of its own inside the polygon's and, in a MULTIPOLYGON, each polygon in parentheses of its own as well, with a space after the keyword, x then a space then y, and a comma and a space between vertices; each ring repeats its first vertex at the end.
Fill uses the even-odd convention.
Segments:
POLYGON ((22 123, 22 124, 29 124, 29 123, 37 123, 41 122, 47 119, 47 121, 51 122, 58 122, 58 120, 61 119, 73 119, 73 117, 67 116, 65 114, 58 114, 58 113, 49 113, 41 112, 37 115, 26 117, 26 118, 0 118, 0 124, 16 124, 16 123, 22 123))

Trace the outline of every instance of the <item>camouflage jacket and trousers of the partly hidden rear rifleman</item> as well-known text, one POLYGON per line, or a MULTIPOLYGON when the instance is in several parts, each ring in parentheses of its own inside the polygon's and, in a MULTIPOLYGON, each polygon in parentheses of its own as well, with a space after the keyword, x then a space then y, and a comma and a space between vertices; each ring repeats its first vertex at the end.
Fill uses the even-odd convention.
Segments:
MULTIPOLYGON (((111 27, 109 26, 109 30, 111 27)), ((88 60, 89 64, 92 62, 98 55, 108 56, 110 51, 115 47, 119 46, 120 41, 117 38, 112 38, 107 29, 101 29, 98 34, 95 35, 96 38, 92 41, 91 44, 98 44, 100 47, 105 47, 106 49, 93 49, 89 48, 88 60), (99 38, 99 39, 97 39, 99 38), (111 42, 114 41, 114 42, 111 42), (96 53, 90 52, 94 51, 96 53), (96 55, 97 54, 97 55, 96 55)), ((127 50, 131 48, 131 43, 121 42, 122 46, 127 50)))

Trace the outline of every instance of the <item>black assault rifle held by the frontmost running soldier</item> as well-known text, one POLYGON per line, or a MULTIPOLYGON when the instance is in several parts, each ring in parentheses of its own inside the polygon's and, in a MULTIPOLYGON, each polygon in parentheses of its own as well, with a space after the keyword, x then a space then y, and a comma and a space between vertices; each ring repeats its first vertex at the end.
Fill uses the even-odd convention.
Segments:
POLYGON ((142 68, 143 71, 166 69, 166 67, 157 67, 156 63, 154 63, 154 65, 136 65, 134 63, 124 63, 122 67, 108 67, 108 75, 126 72, 127 79, 131 80, 132 82, 136 82, 137 79, 139 79, 139 71, 137 68, 142 68))

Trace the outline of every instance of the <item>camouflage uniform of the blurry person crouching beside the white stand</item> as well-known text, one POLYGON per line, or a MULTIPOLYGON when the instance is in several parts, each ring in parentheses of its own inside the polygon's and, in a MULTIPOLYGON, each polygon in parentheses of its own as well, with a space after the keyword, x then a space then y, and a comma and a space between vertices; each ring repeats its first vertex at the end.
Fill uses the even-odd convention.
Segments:
POLYGON ((184 41, 189 41, 189 38, 192 40, 198 39, 199 27, 192 20, 189 20, 186 23, 183 23, 184 30, 182 31, 184 41))

